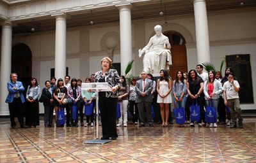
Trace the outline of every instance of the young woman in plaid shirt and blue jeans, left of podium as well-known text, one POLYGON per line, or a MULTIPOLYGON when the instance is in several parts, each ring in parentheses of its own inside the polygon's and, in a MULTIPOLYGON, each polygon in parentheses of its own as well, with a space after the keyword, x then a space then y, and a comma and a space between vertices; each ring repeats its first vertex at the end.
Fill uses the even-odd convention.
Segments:
POLYGON ((81 87, 77 85, 76 78, 72 78, 71 84, 68 87, 68 108, 70 108, 71 126, 73 127, 78 127, 78 110, 81 103, 80 97, 81 87))

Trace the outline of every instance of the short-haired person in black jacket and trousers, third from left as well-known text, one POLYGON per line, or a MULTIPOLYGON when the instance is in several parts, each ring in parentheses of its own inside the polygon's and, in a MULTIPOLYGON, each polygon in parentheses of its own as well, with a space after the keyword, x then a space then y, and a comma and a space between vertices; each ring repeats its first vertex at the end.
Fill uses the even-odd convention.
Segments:
POLYGON ((42 90, 42 95, 40 100, 42 99, 42 103, 44 104, 44 127, 52 127, 52 89, 51 82, 49 80, 45 81, 45 88, 42 90))

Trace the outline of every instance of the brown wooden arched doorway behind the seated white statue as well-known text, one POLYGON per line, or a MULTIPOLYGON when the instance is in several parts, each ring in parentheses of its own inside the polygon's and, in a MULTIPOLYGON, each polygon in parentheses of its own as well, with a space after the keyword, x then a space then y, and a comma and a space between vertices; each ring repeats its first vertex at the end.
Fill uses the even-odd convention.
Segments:
POLYGON ((178 70, 188 72, 186 40, 177 31, 166 31, 163 34, 169 38, 172 46, 172 66, 170 66, 169 74, 174 80, 178 70))

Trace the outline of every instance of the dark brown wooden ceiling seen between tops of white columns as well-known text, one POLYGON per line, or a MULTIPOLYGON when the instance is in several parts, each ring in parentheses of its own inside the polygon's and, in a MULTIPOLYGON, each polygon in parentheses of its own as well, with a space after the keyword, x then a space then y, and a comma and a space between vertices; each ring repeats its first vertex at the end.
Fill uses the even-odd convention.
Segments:
MULTIPOLYGON (((206 0, 206 4, 208 14, 223 11, 237 12, 256 9, 255 0, 206 0)), ((132 21, 150 20, 152 18, 163 18, 164 20, 165 16, 170 20, 180 16, 193 16, 193 13, 193 3, 190 0, 156 0, 132 3, 131 8, 132 21), (163 16, 159 15, 160 11, 164 12, 163 16)), ((91 20, 93 20, 93 25, 119 22, 119 11, 115 6, 98 8, 93 11, 84 10, 68 13, 68 15, 70 15, 70 18, 67 20, 67 28, 88 26, 91 25, 91 20)), ((51 16, 22 20, 22 22, 14 23, 17 24, 17 26, 13 27, 14 35, 29 33, 31 32, 31 28, 34 28, 35 32, 55 30, 55 18, 51 16)))

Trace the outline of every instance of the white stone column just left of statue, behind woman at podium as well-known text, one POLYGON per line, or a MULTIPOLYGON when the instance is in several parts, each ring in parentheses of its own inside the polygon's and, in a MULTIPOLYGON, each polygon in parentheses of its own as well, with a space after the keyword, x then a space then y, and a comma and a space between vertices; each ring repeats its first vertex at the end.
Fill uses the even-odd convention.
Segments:
POLYGON ((128 62, 132 60, 131 4, 116 7, 119 10, 120 16, 121 74, 125 74, 125 67, 127 66, 128 62))

